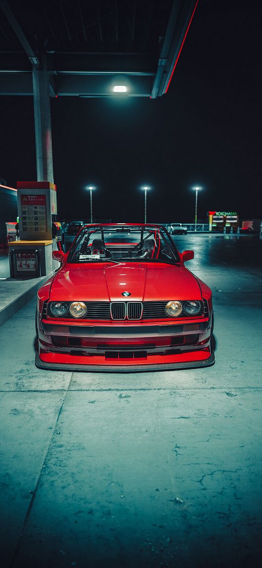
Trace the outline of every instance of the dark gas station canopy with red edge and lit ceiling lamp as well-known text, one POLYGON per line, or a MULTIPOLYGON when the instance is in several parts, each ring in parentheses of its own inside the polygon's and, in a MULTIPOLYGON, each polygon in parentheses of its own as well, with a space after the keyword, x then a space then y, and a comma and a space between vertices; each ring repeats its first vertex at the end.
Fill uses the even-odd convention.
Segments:
POLYGON ((44 70, 51 97, 161 97, 197 3, 0 0, 0 94, 33 95, 44 70))

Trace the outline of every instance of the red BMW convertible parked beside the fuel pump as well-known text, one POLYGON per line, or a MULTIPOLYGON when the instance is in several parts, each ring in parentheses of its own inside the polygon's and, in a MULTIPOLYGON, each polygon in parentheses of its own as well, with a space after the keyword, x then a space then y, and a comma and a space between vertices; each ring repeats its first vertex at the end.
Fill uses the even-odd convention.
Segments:
POLYGON ((213 365, 211 290, 161 225, 81 228, 38 292, 36 366, 154 371, 213 365))

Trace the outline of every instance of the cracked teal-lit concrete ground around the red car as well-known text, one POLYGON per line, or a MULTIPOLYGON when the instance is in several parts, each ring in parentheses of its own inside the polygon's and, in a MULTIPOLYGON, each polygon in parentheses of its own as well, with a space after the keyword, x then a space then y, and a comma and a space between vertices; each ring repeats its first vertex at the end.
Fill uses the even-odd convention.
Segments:
POLYGON ((260 565, 262 241, 176 241, 213 289, 213 367, 41 371, 35 300, 0 327, 1 566, 260 565))

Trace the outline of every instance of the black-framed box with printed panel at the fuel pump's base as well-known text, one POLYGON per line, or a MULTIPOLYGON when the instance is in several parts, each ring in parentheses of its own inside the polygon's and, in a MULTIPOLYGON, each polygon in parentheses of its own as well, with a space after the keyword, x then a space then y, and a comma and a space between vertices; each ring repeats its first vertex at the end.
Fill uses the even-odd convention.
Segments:
POLYGON ((39 278, 40 253, 39 250, 11 249, 9 252, 11 278, 39 278))

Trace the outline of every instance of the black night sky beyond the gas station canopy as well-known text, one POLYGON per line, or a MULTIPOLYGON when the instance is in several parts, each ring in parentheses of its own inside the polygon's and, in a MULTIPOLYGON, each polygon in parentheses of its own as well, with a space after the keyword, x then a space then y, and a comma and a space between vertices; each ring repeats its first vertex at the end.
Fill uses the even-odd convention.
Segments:
MULTIPOLYGON (((59 218, 193 222, 208 210, 261 218, 262 3, 199 0, 167 95, 51 99, 59 218)), ((1 97, 0 176, 36 179, 31 97, 1 97)))

